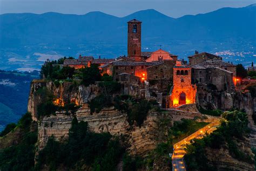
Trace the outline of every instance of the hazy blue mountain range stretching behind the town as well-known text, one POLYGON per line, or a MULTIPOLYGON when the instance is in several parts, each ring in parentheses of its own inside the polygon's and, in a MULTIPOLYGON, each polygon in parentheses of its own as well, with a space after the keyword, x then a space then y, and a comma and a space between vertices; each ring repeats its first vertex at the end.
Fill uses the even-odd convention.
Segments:
MULTIPOLYGON (((183 58, 194 50, 248 51, 256 44, 255 16, 255 4, 180 18, 171 18, 152 9, 122 18, 103 12, 85 15, 6 13, 0 15, 0 65, 8 64, 6 69, 12 69, 12 65, 38 68, 42 61, 33 63, 38 59, 37 53, 60 56, 83 53, 109 58, 126 54, 126 22, 133 18, 143 22, 144 51, 156 50, 160 44, 183 58), (9 61, 9 58, 16 61, 9 61), (24 59, 28 63, 21 61, 24 59)), ((5 69, 3 66, 0 69, 5 69)))

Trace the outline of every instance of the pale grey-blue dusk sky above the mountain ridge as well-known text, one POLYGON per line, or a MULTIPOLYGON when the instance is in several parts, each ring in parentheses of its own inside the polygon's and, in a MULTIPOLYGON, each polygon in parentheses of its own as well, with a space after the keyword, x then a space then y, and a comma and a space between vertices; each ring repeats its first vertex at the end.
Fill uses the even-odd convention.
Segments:
POLYGON ((155 9, 177 18, 253 3, 256 0, 0 0, 0 13, 60 12, 80 15, 90 11, 102 11, 123 17, 139 10, 155 9))

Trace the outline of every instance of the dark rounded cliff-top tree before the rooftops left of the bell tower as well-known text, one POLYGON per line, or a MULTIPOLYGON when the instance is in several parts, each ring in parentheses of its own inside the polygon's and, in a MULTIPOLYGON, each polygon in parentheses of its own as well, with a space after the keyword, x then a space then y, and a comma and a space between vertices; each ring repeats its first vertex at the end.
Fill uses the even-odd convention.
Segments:
POLYGON ((84 84, 85 86, 94 84, 95 81, 100 81, 102 77, 101 71, 96 64, 91 64, 90 67, 80 69, 80 72, 82 72, 82 84, 84 84))

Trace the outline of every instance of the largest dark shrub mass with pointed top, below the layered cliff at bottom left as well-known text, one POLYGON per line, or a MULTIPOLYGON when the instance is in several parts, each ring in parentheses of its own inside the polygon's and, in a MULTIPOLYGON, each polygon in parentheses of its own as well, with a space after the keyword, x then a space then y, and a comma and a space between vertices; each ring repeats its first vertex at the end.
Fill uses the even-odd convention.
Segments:
POLYGON ((118 139, 111 138, 109 133, 90 132, 87 122, 78 122, 74 118, 68 141, 60 143, 54 138, 49 139, 39 152, 36 169, 40 170, 45 165, 50 170, 56 170, 60 165, 79 169, 85 163, 92 170, 114 170, 124 149, 118 139))

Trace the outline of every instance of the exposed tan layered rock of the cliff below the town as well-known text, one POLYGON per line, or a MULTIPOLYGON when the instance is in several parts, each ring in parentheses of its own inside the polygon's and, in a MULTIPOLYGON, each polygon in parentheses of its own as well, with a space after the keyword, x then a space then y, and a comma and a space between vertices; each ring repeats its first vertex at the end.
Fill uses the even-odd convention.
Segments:
MULTIPOLYGON (((78 121, 87 121, 90 130, 93 132, 109 132, 112 135, 125 135, 130 144, 128 151, 132 155, 146 156, 150 151, 156 148, 160 134, 165 134, 164 131, 158 129, 157 125, 157 121, 163 117, 163 113, 151 111, 141 127, 130 127, 127 122, 127 114, 117 111, 113 107, 104 108, 99 113, 91 113, 88 102, 98 94, 99 87, 97 85, 90 85, 87 87, 82 85, 74 86, 73 83, 65 82, 57 87, 51 81, 33 81, 31 83, 28 111, 31 112, 33 120, 38 123, 38 149, 42 149, 52 135, 59 141, 68 138, 73 117, 76 117, 78 121), (59 111, 56 112, 56 115, 50 115, 49 117, 44 117, 39 120, 37 117, 37 105, 41 103, 42 97, 36 92, 40 87, 48 88, 56 98, 75 102, 81 107, 73 114, 59 111)), ((243 94, 241 92, 224 94, 223 97, 224 98, 220 99, 222 99, 221 102, 226 103, 225 106, 229 106, 230 108, 233 106, 246 110, 250 120, 250 127, 254 131, 251 133, 250 140, 252 146, 256 147, 256 129, 252 120, 256 100, 251 98, 250 93, 243 94)), ((214 98, 214 95, 212 95, 212 98, 214 98)), ((215 99, 219 99, 219 97, 215 97, 215 99)), ((181 118, 193 119, 194 117, 205 117, 205 115, 202 115, 197 111, 195 106, 196 105, 194 104, 181 106, 178 110, 167 111, 165 115, 170 117, 170 120, 172 121, 180 120, 181 118)), ((208 116, 207 118, 212 119, 208 116)), ((161 141, 163 141, 163 139, 161 139, 161 141)), ((249 151, 250 144, 248 142, 249 141, 246 141, 242 148, 247 148, 249 151)), ((253 168, 251 165, 234 160, 225 149, 216 152, 209 151, 207 154, 211 163, 218 166, 218 168, 230 167, 238 170, 250 170, 253 168), (215 156, 218 156, 218 158, 215 156)), ((164 164, 167 165, 167 163, 164 164)), ((160 165, 166 168, 169 167, 164 166, 163 163, 159 165, 154 163, 155 168, 159 168, 160 165)))

